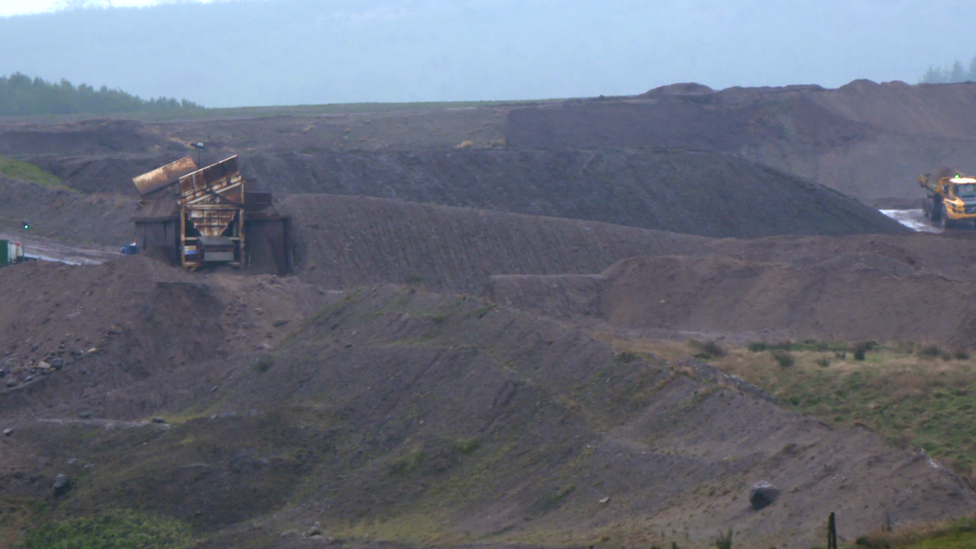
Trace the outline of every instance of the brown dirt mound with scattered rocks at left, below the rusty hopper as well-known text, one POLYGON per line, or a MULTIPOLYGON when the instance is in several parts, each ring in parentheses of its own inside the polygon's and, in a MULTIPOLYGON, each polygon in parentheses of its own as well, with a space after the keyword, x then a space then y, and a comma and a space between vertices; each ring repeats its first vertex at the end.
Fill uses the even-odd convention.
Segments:
MULTIPOLYGON (((297 279, 194 276, 140 256, 96 266, 30 261, 0 269, 0 282, 0 407, 53 394, 48 414, 95 387, 270 347, 328 299, 297 279), (41 366, 54 361, 64 372, 41 366)), ((153 394, 127 394, 126 411, 151 406, 153 394)), ((103 405, 88 402, 107 417, 103 405)))

